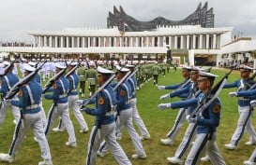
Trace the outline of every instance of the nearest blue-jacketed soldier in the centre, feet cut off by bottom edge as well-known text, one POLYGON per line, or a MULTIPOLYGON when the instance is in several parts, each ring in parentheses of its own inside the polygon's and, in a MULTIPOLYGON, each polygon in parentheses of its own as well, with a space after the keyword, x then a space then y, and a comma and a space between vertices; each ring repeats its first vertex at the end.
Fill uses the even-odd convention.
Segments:
POLYGON ((111 78, 113 72, 98 66, 98 85, 105 86, 98 91, 96 97, 96 109, 85 108, 86 114, 96 116, 95 126, 92 129, 88 142, 88 153, 86 165, 95 165, 99 144, 105 140, 113 153, 113 157, 120 165, 131 165, 122 147, 116 142, 115 123, 113 116, 113 105, 115 104, 115 94, 110 85, 105 82, 111 78))

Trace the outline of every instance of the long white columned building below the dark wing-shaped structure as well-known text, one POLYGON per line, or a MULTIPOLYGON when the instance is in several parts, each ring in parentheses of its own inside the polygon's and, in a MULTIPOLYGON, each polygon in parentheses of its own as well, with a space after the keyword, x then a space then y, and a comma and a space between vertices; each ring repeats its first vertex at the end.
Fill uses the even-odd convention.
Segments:
MULTIPOLYGON (((233 42, 232 31, 232 27, 202 28, 199 25, 158 26, 154 31, 144 32, 120 32, 117 27, 67 28, 54 32, 28 32, 35 38, 34 48, 3 47, 0 52, 114 54, 115 57, 123 55, 122 58, 138 58, 141 55, 155 58, 156 54, 166 54, 168 46, 173 55, 182 54, 188 64, 205 62, 218 65, 224 61, 224 56, 256 49, 256 41, 240 39, 233 42)), ((236 58, 241 59, 238 55, 236 58)))

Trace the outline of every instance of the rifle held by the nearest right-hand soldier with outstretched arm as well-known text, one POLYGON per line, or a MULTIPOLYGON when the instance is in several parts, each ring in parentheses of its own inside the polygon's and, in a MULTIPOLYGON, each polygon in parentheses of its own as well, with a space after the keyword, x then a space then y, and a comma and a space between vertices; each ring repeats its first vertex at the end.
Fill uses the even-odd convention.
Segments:
POLYGON ((232 73, 233 69, 235 69, 235 67, 232 67, 230 72, 223 76, 218 81, 218 84, 205 94, 205 97, 200 102, 200 104, 193 110, 193 112, 190 114, 190 117, 197 117, 200 113, 203 112, 205 108, 207 108, 209 104, 211 104, 218 97, 218 94, 220 93, 221 89, 223 89, 228 79, 228 76, 232 73))

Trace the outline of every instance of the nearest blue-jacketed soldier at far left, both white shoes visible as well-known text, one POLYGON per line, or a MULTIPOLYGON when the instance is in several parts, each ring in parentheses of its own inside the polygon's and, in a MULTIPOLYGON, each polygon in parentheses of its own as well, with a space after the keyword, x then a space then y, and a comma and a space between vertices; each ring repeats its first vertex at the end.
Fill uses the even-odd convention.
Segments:
MULTIPOLYGON (((28 64, 24 64, 24 76, 28 76, 35 68, 28 64)), ((0 154, 2 161, 12 163, 15 161, 18 149, 23 142, 27 131, 33 129, 38 140, 41 150, 41 157, 44 158, 38 165, 53 165, 49 144, 43 131, 43 122, 41 118, 40 100, 42 88, 32 77, 27 84, 24 84, 19 91, 19 100, 11 100, 10 103, 14 106, 22 108, 23 116, 17 122, 13 140, 9 148, 8 154, 0 154)))

